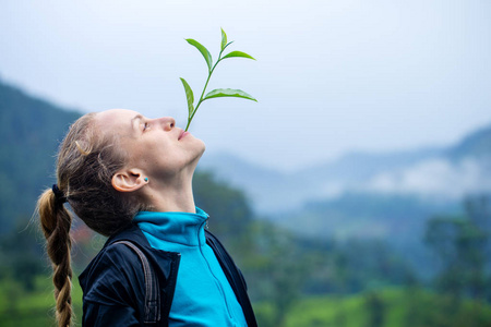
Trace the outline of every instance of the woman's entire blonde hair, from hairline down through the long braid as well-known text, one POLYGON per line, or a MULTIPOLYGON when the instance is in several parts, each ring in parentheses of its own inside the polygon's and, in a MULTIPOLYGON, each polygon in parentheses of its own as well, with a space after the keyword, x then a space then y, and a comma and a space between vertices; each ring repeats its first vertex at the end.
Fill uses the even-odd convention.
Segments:
MULTIPOLYGON (((116 136, 97 131, 95 114, 87 113, 70 126, 58 153, 57 183, 74 214, 96 232, 109 237, 128 227, 145 208, 112 187, 112 175, 123 168, 127 154, 116 136)), ((58 325, 70 326, 72 213, 51 189, 39 196, 37 213, 52 262, 58 325)))

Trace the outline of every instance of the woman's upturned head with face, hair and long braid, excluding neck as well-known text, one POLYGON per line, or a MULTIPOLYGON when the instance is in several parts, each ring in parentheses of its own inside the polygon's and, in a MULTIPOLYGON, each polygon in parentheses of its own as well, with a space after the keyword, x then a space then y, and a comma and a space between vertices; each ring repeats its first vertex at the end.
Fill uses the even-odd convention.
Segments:
MULTIPOLYGON (((173 119, 146 119, 130 110, 88 113, 75 121, 60 145, 57 183, 73 211, 89 228, 111 235, 148 209, 153 184, 192 177, 204 144, 175 128, 173 119), (145 196, 144 196, 145 195, 145 196)), ((69 237, 72 217, 53 190, 38 201, 47 252, 53 263, 60 326, 71 319, 69 237)))

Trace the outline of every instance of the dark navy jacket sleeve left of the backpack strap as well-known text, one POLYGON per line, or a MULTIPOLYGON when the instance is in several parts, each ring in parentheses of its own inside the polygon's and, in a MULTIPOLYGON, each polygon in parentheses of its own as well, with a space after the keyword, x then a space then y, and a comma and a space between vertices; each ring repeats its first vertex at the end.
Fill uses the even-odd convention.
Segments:
POLYGON ((84 284, 82 326, 141 326, 144 275, 140 258, 128 246, 108 246, 84 284))

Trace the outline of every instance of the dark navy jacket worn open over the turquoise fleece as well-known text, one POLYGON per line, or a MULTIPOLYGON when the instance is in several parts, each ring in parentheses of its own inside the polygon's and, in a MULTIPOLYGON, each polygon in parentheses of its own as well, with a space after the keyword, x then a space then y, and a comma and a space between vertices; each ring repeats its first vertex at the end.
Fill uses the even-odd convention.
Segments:
MULTIPOLYGON (((80 275, 83 290, 83 326, 144 326, 145 277, 137 254, 119 241, 130 241, 145 254, 159 284, 159 319, 154 326, 168 326, 180 254, 152 247, 136 225, 109 238, 103 250, 80 275), (113 244, 111 246, 111 244, 113 244)), ((213 249, 242 306, 248 326, 258 326, 242 274, 221 243, 206 231, 213 249)), ((147 326, 147 325, 145 325, 147 326)))

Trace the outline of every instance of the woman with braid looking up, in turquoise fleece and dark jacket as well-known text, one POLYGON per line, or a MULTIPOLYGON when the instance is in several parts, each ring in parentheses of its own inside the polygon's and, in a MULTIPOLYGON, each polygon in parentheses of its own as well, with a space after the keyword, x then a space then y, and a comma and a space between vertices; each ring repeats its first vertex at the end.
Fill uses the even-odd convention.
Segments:
POLYGON ((240 271, 194 206, 192 177, 204 143, 175 124, 115 109, 71 126, 58 154, 58 183, 38 201, 59 326, 72 317, 72 217, 64 202, 109 237, 80 276, 84 326, 256 326, 240 271))

